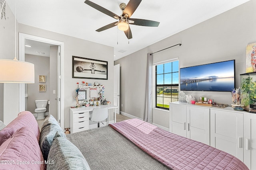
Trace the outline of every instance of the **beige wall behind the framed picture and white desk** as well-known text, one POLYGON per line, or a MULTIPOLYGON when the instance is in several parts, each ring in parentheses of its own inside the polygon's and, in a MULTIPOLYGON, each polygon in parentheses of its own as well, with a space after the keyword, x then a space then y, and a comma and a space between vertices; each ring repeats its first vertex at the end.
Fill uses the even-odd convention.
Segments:
MULTIPOLYGON (((72 96, 75 96, 75 90, 78 88, 77 82, 82 81, 94 83, 100 82, 105 86, 105 98, 113 102, 114 90, 113 90, 113 78, 114 78, 114 51, 113 47, 93 43, 83 39, 70 37, 67 35, 54 33, 51 31, 38 29, 24 24, 19 24, 19 32, 38 37, 44 37, 47 39, 53 39, 56 41, 64 42, 64 127, 69 127, 70 106, 75 105, 75 100, 72 96), (85 57, 90 59, 97 59, 102 61, 108 61, 108 80, 94 80, 94 79, 80 79, 72 78, 72 56, 85 57)), ((112 116, 110 121, 113 120, 112 116)))

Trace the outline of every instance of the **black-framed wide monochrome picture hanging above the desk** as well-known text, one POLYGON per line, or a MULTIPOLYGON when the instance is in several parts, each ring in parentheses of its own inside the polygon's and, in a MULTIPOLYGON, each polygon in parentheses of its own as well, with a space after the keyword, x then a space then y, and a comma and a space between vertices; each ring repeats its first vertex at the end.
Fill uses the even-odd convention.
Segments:
POLYGON ((72 78, 108 80, 108 62, 72 56, 72 78))

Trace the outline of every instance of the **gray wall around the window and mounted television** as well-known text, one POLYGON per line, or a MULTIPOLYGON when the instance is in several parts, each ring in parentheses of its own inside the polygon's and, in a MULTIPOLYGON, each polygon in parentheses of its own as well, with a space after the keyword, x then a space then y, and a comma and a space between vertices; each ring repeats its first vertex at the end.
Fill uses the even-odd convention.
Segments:
MULTIPOLYGON (((136 53, 128 55, 114 64, 121 66, 120 111, 143 118, 146 82, 146 56, 154 54, 154 63, 179 57, 180 68, 219 61, 236 60, 236 88, 240 86, 240 74, 245 73, 246 45, 256 42, 256 0, 251 0, 214 18, 181 31, 136 53), (132 93, 131 93, 132 92, 132 93)), ((214 99, 215 102, 231 104, 230 92, 192 92, 214 99)), ((153 123, 169 128, 169 112, 153 109, 153 123)))

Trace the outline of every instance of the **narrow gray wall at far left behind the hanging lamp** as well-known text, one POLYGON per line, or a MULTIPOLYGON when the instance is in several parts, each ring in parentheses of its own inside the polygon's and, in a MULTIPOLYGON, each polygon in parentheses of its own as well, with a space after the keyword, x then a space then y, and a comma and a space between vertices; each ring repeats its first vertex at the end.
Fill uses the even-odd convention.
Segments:
MULTIPOLYGON (((8 4, 6 3, 6 20, 0 19, 0 59, 14 59, 15 56, 15 19, 12 14, 8 4)), ((18 24, 16 29, 16 35, 18 37, 18 24)), ((18 49, 18 41, 16 41, 18 49)), ((17 50, 17 59, 18 59, 18 50, 17 50)), ((2 73, 1 73, 2 74, 2 73)), ((9 123, 14 117, 18 115, 19 104, 18 104, 18 84, 5 84, 0 83, 0 120, 3 120, 3 109, 5 108, 6 112, 6 124, 9 123), (5 94, 5 99, 4 99, 5 94), (4 100, 5 107, 4 107, 4 100)))

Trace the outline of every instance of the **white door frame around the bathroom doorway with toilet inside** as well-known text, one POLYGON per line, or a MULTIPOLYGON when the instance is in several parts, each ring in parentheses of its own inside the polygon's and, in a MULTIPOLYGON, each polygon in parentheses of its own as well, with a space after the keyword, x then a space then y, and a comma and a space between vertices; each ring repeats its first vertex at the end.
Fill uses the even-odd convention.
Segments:
MULTIPOLYGON (((60 127, 64 129, 64 43, 43 37, 37 37, 25 33, 19 33, 19 60, 25 61, 25 39, 39 41, 60 46, 60 127)), ((25 84, 19 84, 19 112, 25 110, 25 84)))

